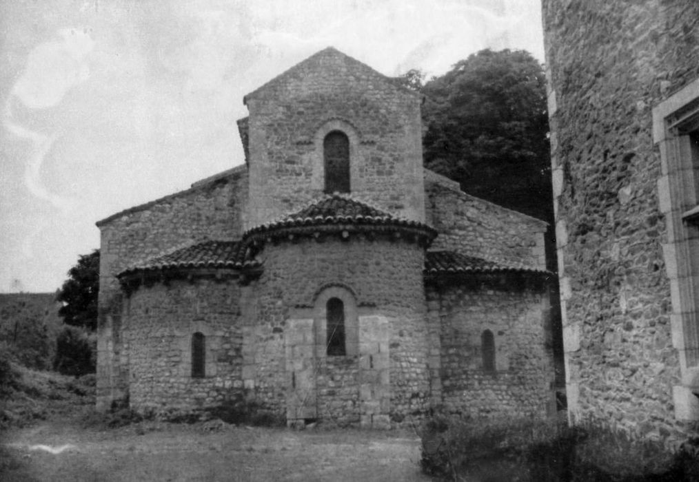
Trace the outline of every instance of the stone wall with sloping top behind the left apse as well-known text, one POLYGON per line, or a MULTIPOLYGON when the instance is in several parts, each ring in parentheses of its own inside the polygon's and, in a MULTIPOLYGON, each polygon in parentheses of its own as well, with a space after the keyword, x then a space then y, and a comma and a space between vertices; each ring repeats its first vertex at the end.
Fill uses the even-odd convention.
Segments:
POLYGON ((235 168, 192 189, 133 207, 98 223, 101 229, 97 406, 126 395, 128 360, 120 348, 120 287, 129 265, 197 241, 240 238, 247 171, 235 168), (116 298, 115 298, 116 297, 116 298))

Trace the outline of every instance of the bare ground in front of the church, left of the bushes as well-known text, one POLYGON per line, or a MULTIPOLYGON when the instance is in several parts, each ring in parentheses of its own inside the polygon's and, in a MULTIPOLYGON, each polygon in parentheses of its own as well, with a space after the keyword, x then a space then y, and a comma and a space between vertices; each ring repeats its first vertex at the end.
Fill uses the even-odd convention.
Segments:
POLYGON ((414 432, 290 430, 221 421, 83 428, 43 421, 3 434, 2 481, 430 481, 414 432), (59 452, 59 453, 52 453, 59 452))

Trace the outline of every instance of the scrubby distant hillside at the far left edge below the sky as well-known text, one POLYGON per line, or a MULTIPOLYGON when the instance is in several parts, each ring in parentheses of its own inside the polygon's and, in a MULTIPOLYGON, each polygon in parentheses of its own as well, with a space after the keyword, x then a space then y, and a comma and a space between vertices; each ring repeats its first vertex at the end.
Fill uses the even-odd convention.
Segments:
POLYGON ((0 350, 27 367, 51 368, 63 326, 55 293, 0 293, 0 350))

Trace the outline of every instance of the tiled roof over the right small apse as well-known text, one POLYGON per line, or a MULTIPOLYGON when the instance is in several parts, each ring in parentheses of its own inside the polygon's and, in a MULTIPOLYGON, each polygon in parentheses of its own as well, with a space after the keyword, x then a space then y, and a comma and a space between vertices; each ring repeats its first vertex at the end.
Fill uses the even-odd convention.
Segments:
POLYGON ((458 275, 489 272, 540 272, 546 270, 532 268, 524 264, 489 261, 454 251, 428 251, 425 256, 426 275, 458 275))

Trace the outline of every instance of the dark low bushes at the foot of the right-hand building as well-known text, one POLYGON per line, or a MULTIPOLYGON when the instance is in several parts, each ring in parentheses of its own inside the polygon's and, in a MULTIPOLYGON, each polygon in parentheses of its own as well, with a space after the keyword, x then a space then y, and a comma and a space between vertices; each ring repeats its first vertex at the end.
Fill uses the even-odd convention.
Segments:
POLYGON ((670 453, 660 441, 639 441, 596 425, 442 416, 424 424, 421 467, 454 481, 479 470, 491 474, 490 480, 698 481, 699 439, 670 453), (494 476, 493 470, 500 473, 494 476))

